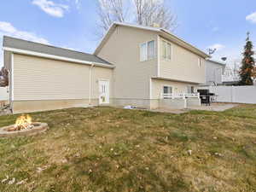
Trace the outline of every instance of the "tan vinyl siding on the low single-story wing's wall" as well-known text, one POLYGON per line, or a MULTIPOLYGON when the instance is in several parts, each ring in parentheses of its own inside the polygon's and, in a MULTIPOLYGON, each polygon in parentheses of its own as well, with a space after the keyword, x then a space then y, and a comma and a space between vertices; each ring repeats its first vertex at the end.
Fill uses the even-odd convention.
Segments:
MULTIPOLYGON (((94 70, 97 77, 111 79, 111 69, 94 70)), ((88 99, 89 74, 87 65, 15 54, 15 101, 88 99)), ((96 80, 92 84, 94 89, 98 88, 96 80)))

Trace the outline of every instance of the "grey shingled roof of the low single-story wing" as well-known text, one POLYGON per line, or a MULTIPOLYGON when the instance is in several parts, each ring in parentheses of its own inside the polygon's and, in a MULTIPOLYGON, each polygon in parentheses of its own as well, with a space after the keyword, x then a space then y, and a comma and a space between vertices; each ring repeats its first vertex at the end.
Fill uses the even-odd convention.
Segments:
MULTIPOLYGON (((102 64, 113 67, 108 61, 102 60, 96 55, 90 55, 71 49, 63 49, 51 46, 49 44, 38 44, 31 41, 22 40, 20 38, 3 37, 3 49, 12 50, 19 53, 19 50, 27 51, 27 53, 39 53, 42 55, 55 55, 56 58, 68 58, 73 61, 84 61, 93 64, 102 64)), ((22 53, 20 51, 20 53, 22 53)), ((25 52, 24 52, 25 53, 25 52)), ((45 56, 46 57, 46 56, 45 56)))

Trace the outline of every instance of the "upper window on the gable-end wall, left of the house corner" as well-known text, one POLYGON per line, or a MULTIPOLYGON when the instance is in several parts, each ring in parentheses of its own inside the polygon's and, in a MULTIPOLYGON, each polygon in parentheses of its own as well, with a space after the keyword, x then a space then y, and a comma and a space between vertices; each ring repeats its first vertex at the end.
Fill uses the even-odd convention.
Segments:
POLYGON ((144 44, 141 44, 141 61, 152 60, 155 57, 155 46, 154 41, 148 41, 144 44))

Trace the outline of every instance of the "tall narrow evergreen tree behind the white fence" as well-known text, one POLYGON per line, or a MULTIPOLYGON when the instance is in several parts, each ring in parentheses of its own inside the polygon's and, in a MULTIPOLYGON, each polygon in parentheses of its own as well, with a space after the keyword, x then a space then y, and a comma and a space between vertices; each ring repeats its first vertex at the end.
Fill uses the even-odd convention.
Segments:
POLYGON ((244 46, 243 59, 240 68, 240 85, 253 85, 253 70, 255 61, 253 58, 253 43, 250 41, 249 32, 247 32, 246 45, 244 46))

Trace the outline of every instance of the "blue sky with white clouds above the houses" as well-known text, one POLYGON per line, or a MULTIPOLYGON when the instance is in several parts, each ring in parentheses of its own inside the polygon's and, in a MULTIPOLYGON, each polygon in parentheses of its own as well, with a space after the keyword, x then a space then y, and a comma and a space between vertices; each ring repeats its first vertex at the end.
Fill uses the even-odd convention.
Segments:
MULTIPOLYGON (((167 0, 167 6, 177 15, 173 33, 205 52, 216 48, 215 60, 240 59, 247 32, 256 44, 255 0, 167 0)), ((97 23, 96 0, 2 0, 0 44, 9 35, 93 53, 97 23)))

